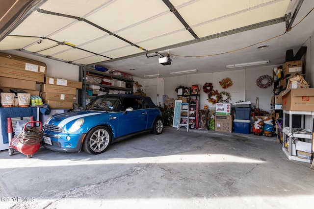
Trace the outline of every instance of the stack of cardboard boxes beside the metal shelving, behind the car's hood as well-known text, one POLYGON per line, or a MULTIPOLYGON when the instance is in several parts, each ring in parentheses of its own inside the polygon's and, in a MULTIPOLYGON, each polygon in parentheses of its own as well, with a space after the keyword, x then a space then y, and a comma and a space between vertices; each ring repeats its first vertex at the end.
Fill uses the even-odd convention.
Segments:
POLYGON ((41 86, 41 97, 52 109, 72 109, 77 89, 81 88, 82 83, 79 81, 46 76, 41 86))

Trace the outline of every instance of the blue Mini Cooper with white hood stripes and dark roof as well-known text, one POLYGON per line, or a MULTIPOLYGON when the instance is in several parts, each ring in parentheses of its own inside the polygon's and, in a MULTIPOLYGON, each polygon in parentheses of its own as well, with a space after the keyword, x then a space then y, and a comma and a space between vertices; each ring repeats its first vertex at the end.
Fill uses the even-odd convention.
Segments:
POLYGON ((144 132, 161 134, 163 118, 150 97, 108 94, 85 110, 58 114, 44 123, 43 146, 61 152, 105 152, 109 144, 144 132))

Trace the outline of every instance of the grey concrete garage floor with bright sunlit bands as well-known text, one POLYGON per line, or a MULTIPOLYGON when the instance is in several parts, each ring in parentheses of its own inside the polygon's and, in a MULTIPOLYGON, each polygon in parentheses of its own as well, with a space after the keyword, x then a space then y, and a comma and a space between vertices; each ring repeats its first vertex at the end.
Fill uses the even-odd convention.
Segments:
POLYGON ((101 155, 0 151, 0 208, 313 208, 310 163, 276 137, 165 127, 101 155), (24 199, 24 201, 23 201, 24 199))

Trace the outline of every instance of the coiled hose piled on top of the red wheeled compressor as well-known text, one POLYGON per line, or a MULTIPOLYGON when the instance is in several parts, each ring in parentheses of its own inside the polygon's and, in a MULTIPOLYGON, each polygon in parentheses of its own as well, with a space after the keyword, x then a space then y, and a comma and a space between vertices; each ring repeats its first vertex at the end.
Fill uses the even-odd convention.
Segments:
POLYGON ((40 143, 43 138, 44 130, 39 126, 31 126, 24 128, 19 134, 18 139, 21 143, 31 145, 40 143))

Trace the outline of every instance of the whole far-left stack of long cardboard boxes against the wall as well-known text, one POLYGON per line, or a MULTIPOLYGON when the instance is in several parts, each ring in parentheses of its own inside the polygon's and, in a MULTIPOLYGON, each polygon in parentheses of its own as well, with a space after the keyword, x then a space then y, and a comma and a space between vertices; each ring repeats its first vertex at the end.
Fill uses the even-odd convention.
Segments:
POLYGON ((19 89, 38 96, 36 83, 43 83, 46 73, 47 66, 43 62, 0 52, 0 89, 3 92, 19 89))

